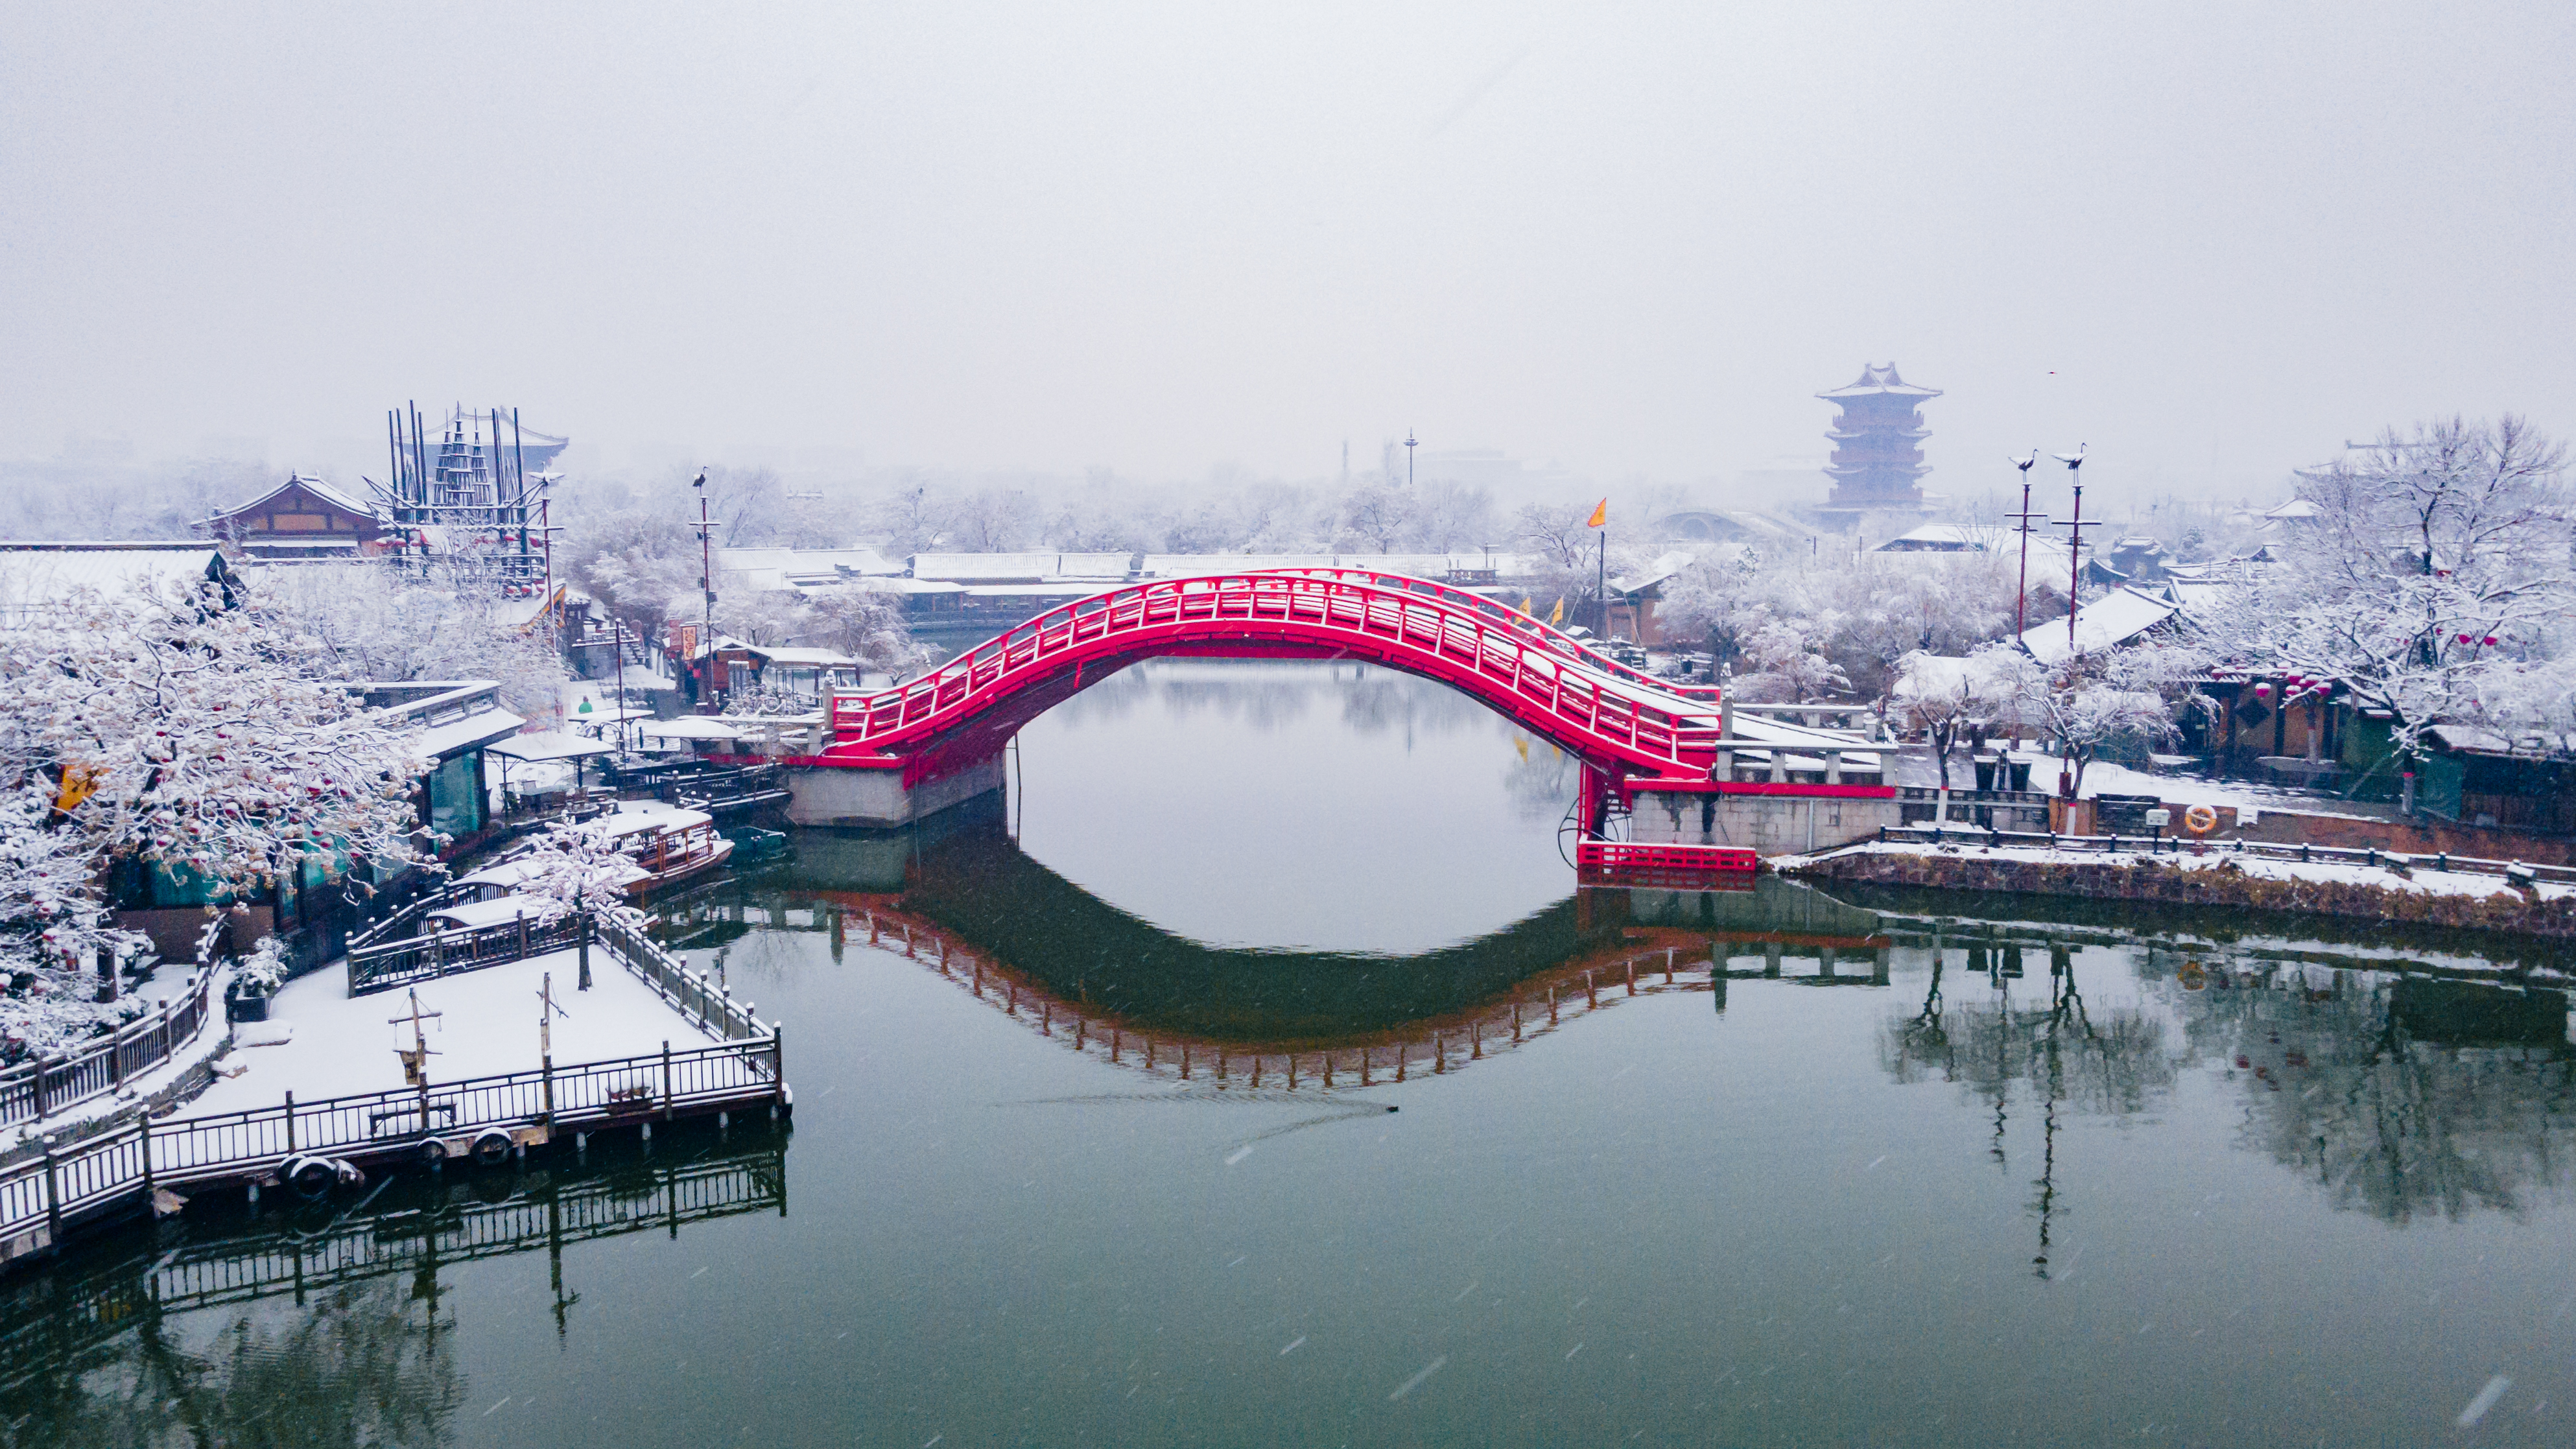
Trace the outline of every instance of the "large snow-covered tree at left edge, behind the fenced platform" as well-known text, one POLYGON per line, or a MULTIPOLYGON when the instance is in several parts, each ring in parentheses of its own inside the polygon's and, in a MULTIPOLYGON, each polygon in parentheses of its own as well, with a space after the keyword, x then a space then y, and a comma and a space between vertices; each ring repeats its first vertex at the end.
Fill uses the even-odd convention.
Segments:
POLYGON ((54 1050, 108 1019, 77 1009, 75 978, 139 945, 111 927, 111 860, 219 896, 312 860, 407 862, 420 764, 258 597, 80 589, 18 618, 0 636, 0 1035, 54 1050))

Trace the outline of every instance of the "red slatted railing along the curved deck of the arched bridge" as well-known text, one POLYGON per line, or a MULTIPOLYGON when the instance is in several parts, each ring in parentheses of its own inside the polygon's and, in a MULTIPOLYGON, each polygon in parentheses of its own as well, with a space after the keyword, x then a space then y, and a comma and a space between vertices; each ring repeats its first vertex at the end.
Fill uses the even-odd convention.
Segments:
MULTIPOLYGON (((1535 620, 1466 610, 1437 597, 1443 584, 1383 587, 1309 574, 1224 574, 1131 584, 1048 610, 894 690, 835 695, 840 746, 894 746, 961 723, 1005 692, 1059 669, 1061 656, 1121 636, 1242 623, 1255 636, 1329 643, 1365 638, 1419 672, 1502 695, 1520 718, 1556 726, 1656 767, 1705 770, 1716 757, 1718 713, 1633 669, 1533 633, 1535 620), (1275 633, 1273 633, 1275 631, 1275 633), (1577 656, 1569 656, 1579 654, 1577 656)), ((1473 597, 1473 595, 1471 595, 1473 597)), ((1479 605, 1489 600, 1479 597, 1479 605)))

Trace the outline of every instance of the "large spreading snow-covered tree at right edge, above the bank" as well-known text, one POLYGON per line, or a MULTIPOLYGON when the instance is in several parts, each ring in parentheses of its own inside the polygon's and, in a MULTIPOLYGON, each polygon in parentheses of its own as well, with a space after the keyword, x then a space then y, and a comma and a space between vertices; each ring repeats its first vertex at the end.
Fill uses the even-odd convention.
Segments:
POLYGON ((2218 615, 2241 664, 2334 679, 2401 754, 2488 697, 2548 700, 2571 602, 2566 448, 2519 417, 2427 422, 2311 474, 2285 558, 2218 615))

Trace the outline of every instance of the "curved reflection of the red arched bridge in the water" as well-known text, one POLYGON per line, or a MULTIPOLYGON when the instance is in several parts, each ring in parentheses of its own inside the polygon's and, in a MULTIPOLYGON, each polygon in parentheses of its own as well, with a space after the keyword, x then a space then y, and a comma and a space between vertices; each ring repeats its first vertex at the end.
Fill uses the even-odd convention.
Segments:
POLYGON ((1731 978, 1886 986, 1878 916, 1777 878, 1749 891, 1582 888, 1417 955, 1216 947, 1028 857, 999 818, 920 836, 799 839, 773 870, 662 901, 665 942, 752 929, 896 950, 1121 1068, 1211 1089, 1332 1089, 1448 1073, 1631 996, 1731 978), (858 883, 858 888, 853 888, 858 883))

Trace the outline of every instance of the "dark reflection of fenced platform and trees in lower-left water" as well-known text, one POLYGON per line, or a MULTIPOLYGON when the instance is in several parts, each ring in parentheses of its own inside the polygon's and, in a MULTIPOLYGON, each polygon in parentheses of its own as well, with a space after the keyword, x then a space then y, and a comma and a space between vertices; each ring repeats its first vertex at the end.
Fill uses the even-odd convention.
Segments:
POLYGON ((100 1243, 23 1271, 0 1297, 0 1423, 28 1444, 438 1441, 464 1395, 446 1269, 546 1253, 562 1336, 580 1305, 567 1248, 786 1212, 786 1130, 696 1156, 690 1140, 703 1138, 680 1130, 659 1150, 600 1138, 569 1171, 402 1171, 358 1204, 229 1230, 222 1204, 201 1204, 126 1259, 100 1261, 113 1248, 100 1243), (273 1297, 314 1313, 258 1307, 273 1297))

